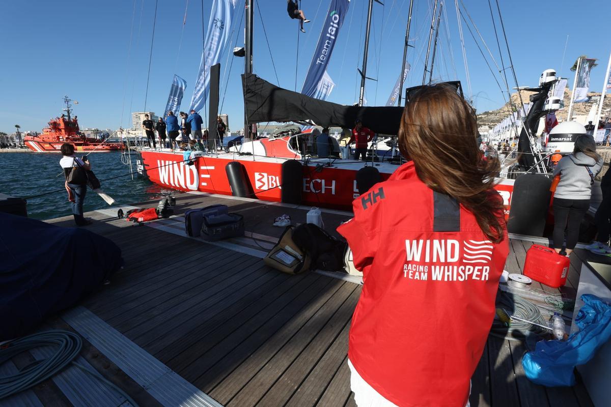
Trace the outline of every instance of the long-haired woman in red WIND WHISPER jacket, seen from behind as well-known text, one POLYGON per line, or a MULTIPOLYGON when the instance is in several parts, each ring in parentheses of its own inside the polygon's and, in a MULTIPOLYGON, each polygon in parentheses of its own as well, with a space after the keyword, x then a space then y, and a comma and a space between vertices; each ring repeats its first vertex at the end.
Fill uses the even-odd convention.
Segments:
POLYGON ((474 110, 447 85, 410 95, 398 143, 409 161, 354 201, 338 228, 363 272, 349 334, 357 405, 467 405, 509 251, 495 157, 474 110))

